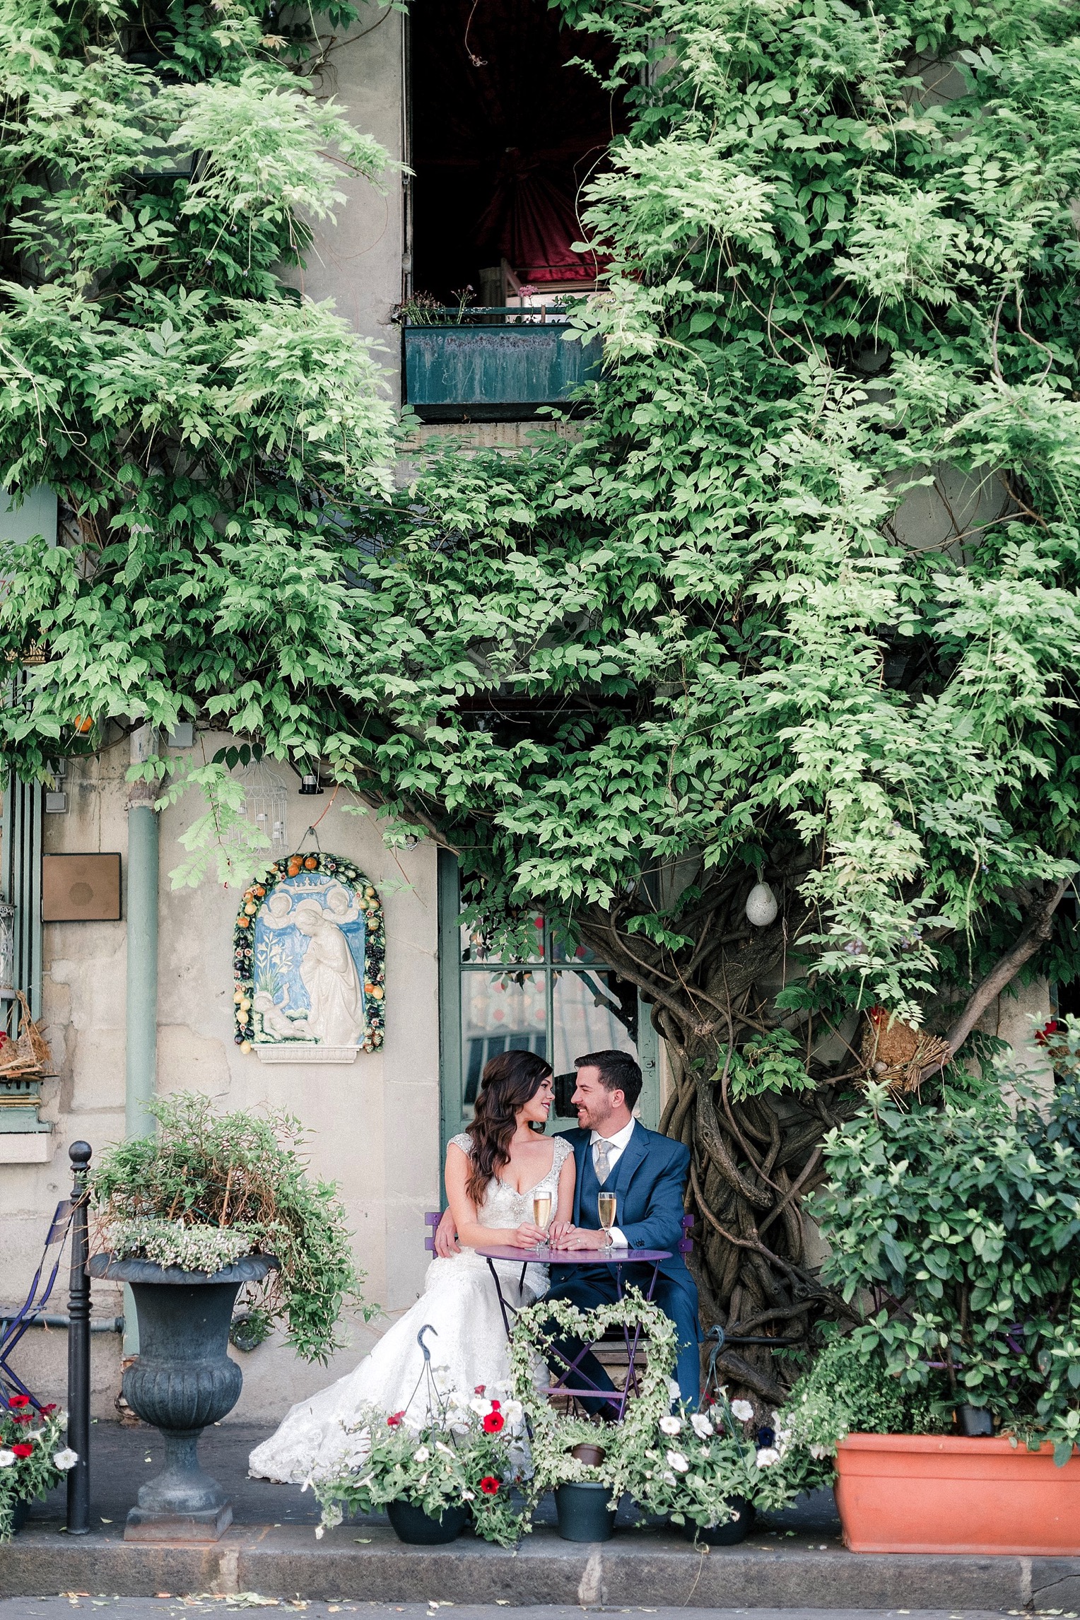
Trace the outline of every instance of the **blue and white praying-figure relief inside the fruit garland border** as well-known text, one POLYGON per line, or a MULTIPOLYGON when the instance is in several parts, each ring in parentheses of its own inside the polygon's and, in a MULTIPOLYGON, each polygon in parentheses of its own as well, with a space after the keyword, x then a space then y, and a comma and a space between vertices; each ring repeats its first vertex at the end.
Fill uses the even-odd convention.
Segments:
POLYGON ((282 878, 254 920, 256 1042, 364 1038, 364 912, 325 872, 282 878))

